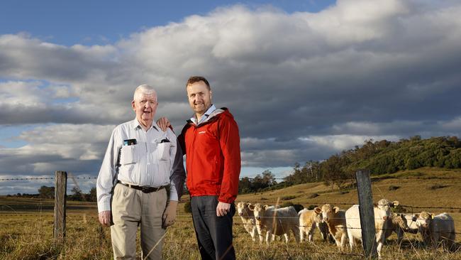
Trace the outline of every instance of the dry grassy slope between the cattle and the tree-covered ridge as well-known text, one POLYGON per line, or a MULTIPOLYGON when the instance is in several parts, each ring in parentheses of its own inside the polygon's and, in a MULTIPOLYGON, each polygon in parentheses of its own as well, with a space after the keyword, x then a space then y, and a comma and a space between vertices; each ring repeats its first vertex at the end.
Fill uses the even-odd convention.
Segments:
MULTIPOLYGON (((445 169, 424 167, 416 170, 401 170, 397 173, 372 177, 373 200, 382 198, 399 200, 407 212, 456 212, 461 220, 461 169, 445 169), (427 207, 427 208, 426 208, 427 207), (431 208, 431 207, 453 207, 431 208)), ((183 197, 184 198, 184 197, 183 197)), ((262 204, 280 205, 291 202, 309 205, 331 203, 347 209, 358 203, 357 188, 349 186, 343 190, 331 190, 323 182, 303 183, 277 190, 260 193, 239 194, 237 202, 260 202, 262 204), (350 203, 343 205, 340 203, 350 203)), ((459 225, 461 229, 461 224, 459 225)))

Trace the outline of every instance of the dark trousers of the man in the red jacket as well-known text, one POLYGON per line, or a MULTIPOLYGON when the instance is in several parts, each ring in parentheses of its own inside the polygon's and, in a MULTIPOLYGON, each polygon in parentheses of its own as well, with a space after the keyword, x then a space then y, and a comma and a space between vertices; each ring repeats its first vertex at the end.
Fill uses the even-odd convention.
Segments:
POLYGON ((192 220, 201 259, 235 259, 232 244, 232 217, 235 205, 226 216, 216 216, 217 196, 191 197, 192 220))

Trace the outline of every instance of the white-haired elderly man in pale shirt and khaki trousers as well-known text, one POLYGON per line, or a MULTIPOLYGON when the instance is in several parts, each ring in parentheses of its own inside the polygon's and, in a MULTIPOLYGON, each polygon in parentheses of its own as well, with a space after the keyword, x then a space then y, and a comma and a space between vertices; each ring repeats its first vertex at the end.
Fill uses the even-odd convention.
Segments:
POLYGON ((138 226, 142 258, 161 259, 165 227, 176 217, 185 178, 182 151, 171 129, 162 131, 153 121, 157 105, 152 87, 136 88, 131 102, 136 118, 113 129, 99 171, 99 222, 113 222, 115 259, 136 259, 138 226))

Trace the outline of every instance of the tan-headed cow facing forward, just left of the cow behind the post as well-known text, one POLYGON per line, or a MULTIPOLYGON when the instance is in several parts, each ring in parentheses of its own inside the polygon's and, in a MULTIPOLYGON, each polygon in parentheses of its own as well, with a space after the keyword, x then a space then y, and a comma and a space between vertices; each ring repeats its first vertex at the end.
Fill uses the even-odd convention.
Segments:
POLYGON ((343 249, 345 246, 345 239, 348 237, 344 210, 340 210, 339 207, 333 207, 330 204, 323 205, 322 218, 328 226, 328 232, 330 232, 333 239, 335 239, 336 246, 343 249))

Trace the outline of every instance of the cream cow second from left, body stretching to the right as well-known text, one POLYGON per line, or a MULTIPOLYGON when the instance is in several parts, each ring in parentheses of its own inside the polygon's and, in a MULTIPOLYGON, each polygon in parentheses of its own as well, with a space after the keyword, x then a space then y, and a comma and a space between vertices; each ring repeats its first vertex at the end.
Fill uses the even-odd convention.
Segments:
POLYGON ((274 208, 257 203, 255 207, 250 207, 255 214, 257 231, 262 234, 262 229, 266 229, 266 243, 269 244, 270 237, 284 235, 285 242, 289 240, 289 231, 293 232, 296 242, 299 242, 299 218, 294 207, 274 208), (271 236, 272 234, 272 236, 271 236))

